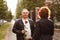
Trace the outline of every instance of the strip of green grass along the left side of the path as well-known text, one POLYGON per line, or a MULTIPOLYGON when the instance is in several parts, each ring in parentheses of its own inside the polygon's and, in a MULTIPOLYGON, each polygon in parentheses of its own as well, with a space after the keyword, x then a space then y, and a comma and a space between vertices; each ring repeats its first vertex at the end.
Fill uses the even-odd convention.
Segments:
POLYGON ((2 26, 0 26, 0 40, 4 40, 8 27, 9 23, 5 23, 2 26))

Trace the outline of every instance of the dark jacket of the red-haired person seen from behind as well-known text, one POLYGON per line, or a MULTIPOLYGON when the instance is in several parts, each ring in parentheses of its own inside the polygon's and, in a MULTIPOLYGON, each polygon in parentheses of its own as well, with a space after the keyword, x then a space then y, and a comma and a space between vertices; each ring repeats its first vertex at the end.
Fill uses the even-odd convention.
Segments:
POLYGON ((54 34, 53 22, 48 19, 42 18, 36 23, 33 40, 40 40, 42 35, 53 36, 53 34, 54 34))

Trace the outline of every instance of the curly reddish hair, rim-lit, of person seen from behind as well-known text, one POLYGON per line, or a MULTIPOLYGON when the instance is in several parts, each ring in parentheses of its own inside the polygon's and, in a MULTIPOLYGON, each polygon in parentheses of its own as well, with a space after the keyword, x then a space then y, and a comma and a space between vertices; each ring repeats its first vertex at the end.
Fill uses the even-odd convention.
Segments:
POLYGON ((39 15, 41 18, 50 18, 50 9, 48 7, 41 7, 39 11, 39 15))

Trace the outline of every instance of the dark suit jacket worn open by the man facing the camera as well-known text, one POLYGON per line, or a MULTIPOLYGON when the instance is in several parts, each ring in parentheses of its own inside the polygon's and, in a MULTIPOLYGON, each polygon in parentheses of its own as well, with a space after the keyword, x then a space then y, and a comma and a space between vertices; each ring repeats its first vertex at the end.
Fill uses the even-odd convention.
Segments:
MULTIPOLYGON (((31 36, 34 32, 34 24, 33 21, 29 19, 30 28, 31 28, 31 36)), ((22 22, 22 19, 19 19, 15 22, 12 31, 16 34, 17 40, 24 40, 24 34, 21 33, 21 31, 24 30, 24 24, 22 22)))

